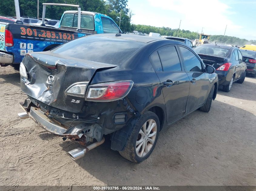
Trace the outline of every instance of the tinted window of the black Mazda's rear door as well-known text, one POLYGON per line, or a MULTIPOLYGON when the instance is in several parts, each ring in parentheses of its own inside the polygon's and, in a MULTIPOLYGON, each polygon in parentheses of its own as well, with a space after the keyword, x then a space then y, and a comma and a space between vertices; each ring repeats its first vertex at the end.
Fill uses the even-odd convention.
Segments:
POLYGON ((181 63, 175 46, 167 46, 158 50, 164 72, 180 72, 181 63))

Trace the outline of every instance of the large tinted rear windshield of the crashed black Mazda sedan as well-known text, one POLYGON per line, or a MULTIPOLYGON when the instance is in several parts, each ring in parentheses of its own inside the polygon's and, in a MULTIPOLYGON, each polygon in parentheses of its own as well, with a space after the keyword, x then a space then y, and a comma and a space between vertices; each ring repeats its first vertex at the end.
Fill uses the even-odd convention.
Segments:
POLYGON ((145 43, 90 35, 53 49, 53 53, 94 62, 119 65, 145 43))

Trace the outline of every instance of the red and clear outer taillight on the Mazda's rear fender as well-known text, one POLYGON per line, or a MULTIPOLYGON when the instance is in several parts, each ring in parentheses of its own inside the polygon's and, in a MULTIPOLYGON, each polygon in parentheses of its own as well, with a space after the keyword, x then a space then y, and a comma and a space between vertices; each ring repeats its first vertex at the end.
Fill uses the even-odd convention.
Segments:
POLYGON ((114 81, 93 84, 88 87, 85 100, 99 102, 120 100, 127 96, 132 85, 133 81, 114 81))

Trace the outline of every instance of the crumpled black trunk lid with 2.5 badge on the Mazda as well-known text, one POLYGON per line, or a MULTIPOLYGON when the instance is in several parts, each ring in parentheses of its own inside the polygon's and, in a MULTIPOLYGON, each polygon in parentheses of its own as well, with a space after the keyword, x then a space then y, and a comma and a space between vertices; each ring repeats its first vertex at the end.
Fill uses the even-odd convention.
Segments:
POLYGON ((91 81, 99 69, 117 66, 71 58, 50 51, 28 53, 22 63, 28 72, 28 79, 21 76, 22 91, 49 106, 73 113, 82 110, 85 97, 66 95, 65 90, 76 82, 91 81), (54 77, 52 85, 47 84, 50 75, 54 77))

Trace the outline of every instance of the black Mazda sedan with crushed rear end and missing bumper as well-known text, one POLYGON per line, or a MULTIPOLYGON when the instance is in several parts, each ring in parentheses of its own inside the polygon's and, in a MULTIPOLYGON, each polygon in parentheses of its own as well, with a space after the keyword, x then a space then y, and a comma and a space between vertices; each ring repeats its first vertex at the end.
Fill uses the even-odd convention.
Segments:
POLYGON ((20 65, 21 119, 85 147, 110 135, 111 149, 139 163, 159 131, 194 110, 209 112, 218 89, 211 65, 184 43, 129 34, 97 34, 47 52, 28 53, 20 65))

